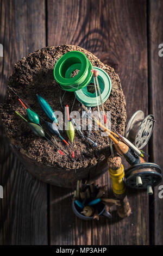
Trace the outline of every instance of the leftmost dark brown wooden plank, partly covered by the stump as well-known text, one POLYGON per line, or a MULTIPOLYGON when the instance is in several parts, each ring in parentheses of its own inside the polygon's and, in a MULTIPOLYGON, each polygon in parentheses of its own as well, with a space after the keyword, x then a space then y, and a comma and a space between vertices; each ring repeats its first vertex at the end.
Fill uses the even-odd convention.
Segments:
MULTIPOLYGON (((14 63, 28 53, 45 46, 45 1, 0 1, 0 94, 5 95, 7 79, 14 63)), ((43 245, 47 237, 47 185, 24 170, 3 135, 1 127, 0 244, 43 245)))

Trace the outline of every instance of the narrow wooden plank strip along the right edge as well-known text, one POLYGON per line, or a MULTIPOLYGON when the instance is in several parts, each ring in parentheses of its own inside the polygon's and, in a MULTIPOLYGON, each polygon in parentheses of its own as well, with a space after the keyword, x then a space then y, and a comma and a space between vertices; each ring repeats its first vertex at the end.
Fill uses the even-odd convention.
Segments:
MULTIPOLYGON (((154 114, 156 119, 153 137, 151 140, 150 156, 151 161, 158 163, 163 168, 162 159, 162 138, 160 136, 163 132, 163 108, 162 108, 162 83, 163 83, 163 57, 159 56, 159 45, 163 46, 163 19, 162 19, 163 2, 161 0, 151 0, 148 6, 148 32, 149 32, 149 111, 154 114)), ((160 54, 163 51, 160 52, 160 54)), ((160 184, 163 185, 163 182, 160 184)), ((159 186, 160 186, 159 185, 159 186)), ((151 242, 155 245, 162 245, 163 243, 163 199, 159 198, 158 188, 155 188, 154 196, 151 198, 151 242)))

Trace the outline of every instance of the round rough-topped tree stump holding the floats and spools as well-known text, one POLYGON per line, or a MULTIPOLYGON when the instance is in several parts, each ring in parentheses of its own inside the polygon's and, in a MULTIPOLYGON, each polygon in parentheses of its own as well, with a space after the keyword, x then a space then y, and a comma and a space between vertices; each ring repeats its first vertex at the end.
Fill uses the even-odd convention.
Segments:
MULTIPOLYGON (((9 77, 8 86, 26 102, 34 111, 46 121, 50 121, 42 111, 36 99, 36 93, 41 95, 53 111, 62 111, 68 104, 70 112, 79 111, 82 107, 78 100, 74 101, 74 93, 61 90, 53 77, 53 69, 57 60, 68 51, 82 51, 93 66, 104 69, 111 78, 112 89, 109 99, 105 101, 105 111, 111 113, 111 130, 121 135, 124 133, 126 123, 126 101, 122 92, 120 78, 113 68, 103 64, 95 55, 84 48, 74 45, 61 45, 58 47, 44 47, 26 58, 19 60, 14 66, 14 72, 9 77), (62 107, 61 101, 62 99, 62 107), (74 105, 73 105, 74 102, 74 105)), ((28 106, 27 106, 28 107, 28 106)), ((46 139, 39 138, 30 132, 26 122, 15 111, 28 119, 26 109, 18 101, 18 97, 8 88, 5 100, 0 105, 2 124, 11 144, 12 150, 26 169, 38 179, 61 187, 74 187, 78 179, 96 179, 108 170, 106 159, 110 156, 109 138, 101 136, 101 131, 93 130, 91 139, 97 141, 97 148, 92 148, 76 132, 73 143, 67 147, 59 137, 51 134, 56 139, 55 147, 46 139), (74 151, 75 160, 67 155, 61 156, 57 149, 66 150, 68 155, 74 151)), ((97 107, 92 108, 97 111, 97 107)), ((43 129, 47 127, 40 119, 43 129)), ((87 136, 87 131, 83 131, 87 136)), ((68 141, 66 131, 61 133, 68 141)), ((47 136, 48 137, 48 136, 47 136)))

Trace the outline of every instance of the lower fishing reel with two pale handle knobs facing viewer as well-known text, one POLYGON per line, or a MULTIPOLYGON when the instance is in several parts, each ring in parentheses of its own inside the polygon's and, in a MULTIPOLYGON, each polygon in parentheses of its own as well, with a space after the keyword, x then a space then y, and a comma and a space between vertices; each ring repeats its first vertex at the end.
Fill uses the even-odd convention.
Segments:
POLYGON ((155 163, 139 163, 131 166, 125 172, 126 185, 131 188, 147 189, 153 194, 152 187, 157 186, 161 180, 161 168, 155 163))

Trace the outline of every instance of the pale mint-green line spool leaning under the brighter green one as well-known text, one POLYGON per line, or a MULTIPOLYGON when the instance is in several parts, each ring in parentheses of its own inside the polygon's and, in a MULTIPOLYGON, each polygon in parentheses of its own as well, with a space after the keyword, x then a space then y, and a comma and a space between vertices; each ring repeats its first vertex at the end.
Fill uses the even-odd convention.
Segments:
MULTIPOLYGON (((101 96, 103 103, 108 99, 110 92, 111 92, 111 79, 110 76, 101 68, 93 67, 93 69, 97 70, 98 72, 98 83, 99 88, 101 90, 101 96)), ((91 78, 90 82, 84 88, 74 92, 79 102, 83 103, 87 107, 96 107, 97 100, 96 100, 96 92, 90 93, 87 88, 91 84, 94 84, 93 77, 91 78)), ((98 90, 97 90, 98 95, 98 90)), ((98 95, 98 104, 101 105, 101 100, 98 95)))

